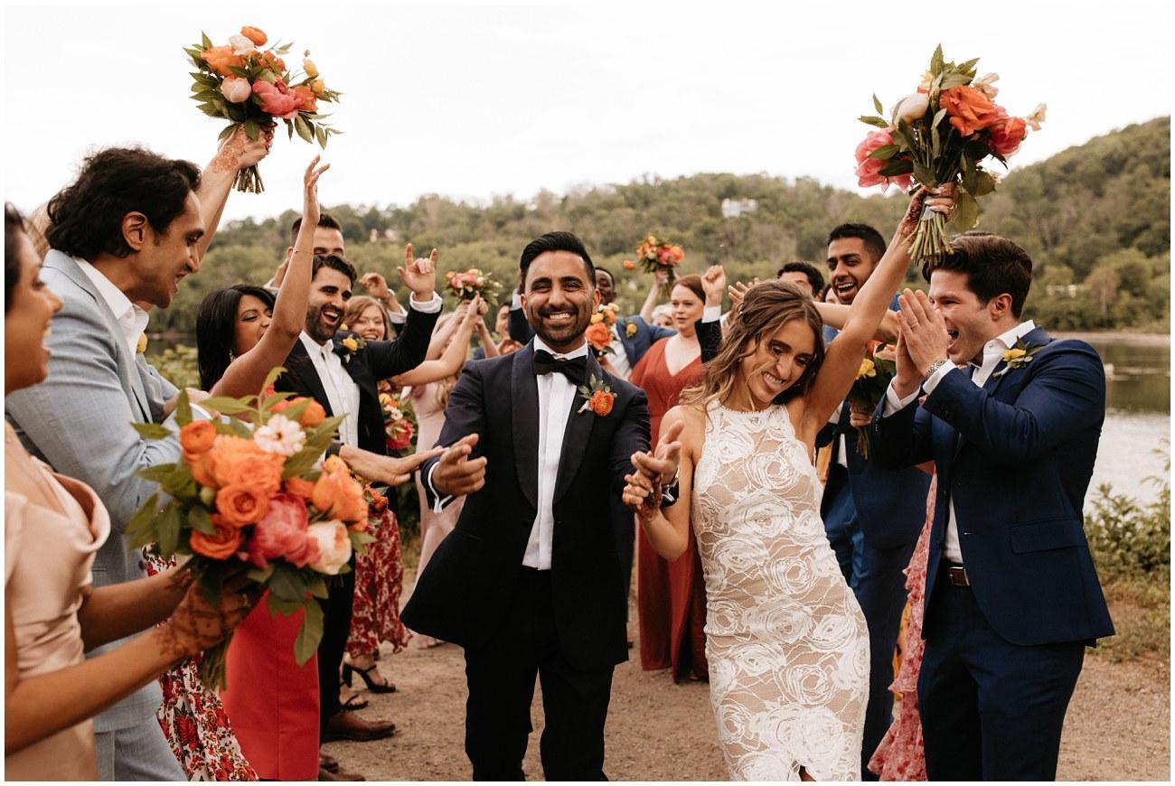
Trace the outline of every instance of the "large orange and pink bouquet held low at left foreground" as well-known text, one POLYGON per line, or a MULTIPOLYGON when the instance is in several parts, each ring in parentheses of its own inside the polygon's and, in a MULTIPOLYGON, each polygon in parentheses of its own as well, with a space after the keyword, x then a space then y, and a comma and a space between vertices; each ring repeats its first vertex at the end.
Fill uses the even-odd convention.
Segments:
MULTIPOLYGON (((270 388, 277 368, 266 381, 270 388)), ((176 405, 182 457, 140 475, 160 491, 127 526, 130 547, 155 543, 161 557, 190 556, 190 571, 210 604, 224 583, 242 571, 269 590, 269 613, 306 612, 294 643, 300 665, 317 651, 327 576, 349 570, 351 550, 371 540, 363 485, 337 456, 322 461, 342 417, 294 394, 203 402, 227 422, 194 421, 186 392, 176 405)), ((156 423, 136 423, 148 439, 174 434, 156 423)), ((204 653, 200 676, 224 685, 230 639, 204 653)))

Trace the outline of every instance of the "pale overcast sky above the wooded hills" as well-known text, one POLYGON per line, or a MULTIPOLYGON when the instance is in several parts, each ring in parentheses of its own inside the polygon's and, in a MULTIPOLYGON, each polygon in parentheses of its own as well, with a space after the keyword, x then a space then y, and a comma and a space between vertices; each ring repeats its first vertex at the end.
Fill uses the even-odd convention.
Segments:
MULTIPOLYGON (((948 59, 998 72, 1012 114, 1048 103, 1014 166, 1170 113, 1166 2, 9 4, 5 16, 4 193, 26 211, 93 147, 137 142, 207 162, 223 122, 188 98, 181 48, 201 31, 226 42, 241 25, 293 40, 291 54, 310 48, 344 93, 325 204, 525 199, 645 173, 855 188, 853 148, 868 130, 855 119, 874 92, 887 108, 912 92, 939 42, 948 59)), ((234 194, 228 217, 300 204, 317 148, 282 132, 262 163, 266 194, 234 194)))

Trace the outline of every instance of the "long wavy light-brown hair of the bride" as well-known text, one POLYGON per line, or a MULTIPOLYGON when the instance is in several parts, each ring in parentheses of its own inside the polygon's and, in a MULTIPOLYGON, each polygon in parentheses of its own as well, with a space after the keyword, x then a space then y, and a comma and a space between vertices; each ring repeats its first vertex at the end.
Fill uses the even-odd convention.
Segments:
MULTIPOLYGON (((793 320, 801 320, 812 328, 812 361, 800 378, 776 396, 773 403, 785 404, 795 396, 803 396, 824 362, 824 320, 811 297, 795 284, 776 278, 747 290, 743 303, 726 318, 726 335, 723 336, 718 355, 706 363, 701 383, 682 392, 682 403, 706 411, 710 402, 727 401, 738 384, 739 363, 743 358, 753 355, 760 341, 793 320)), ((746 384, 745 379, 743 384, 746 384)))

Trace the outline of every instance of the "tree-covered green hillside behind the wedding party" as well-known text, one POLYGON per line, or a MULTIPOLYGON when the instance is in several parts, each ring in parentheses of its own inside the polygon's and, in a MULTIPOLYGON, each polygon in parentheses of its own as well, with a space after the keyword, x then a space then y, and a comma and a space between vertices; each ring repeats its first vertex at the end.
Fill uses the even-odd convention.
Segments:
MULTIPOLYGON (((329 188, 324 196, 329 203, 329 188)), ((298 199, 290 194, 291 204, 298 199)), ((888 237, 904 206, 898 194, 861 197, 808 177, 698 174, 564 196, 543 192, 529 201, 496 197, 469 204, 428 195, 407 207, 327 209, 342 222, 356 267, 391 278, 410 241, 417 249, 439 249, 441 270, 479 267, 512 285, 526 241, 570 229, 598 264, 617 275, 624 309, 636 310, 649 277, 624 271, 622 262, 650 231, 685 248, 685 273, 721 262, 731 281, 750 280, 792 260, 822 268, 827 233, 844 221, 871 223, 888 237), (724 217, 724 200, 745 207, 753 200, 754 207, 724 217)), ((1033 257, 1027 316, 1053 329, 1169 325, 1170 117, 1129 126, 1019 169, 980 206, 980 229, 1015 240, 1033 257)), ((153 314, 153 328, 190 331, 208 291, 264 281, 289 244, 296 217, 290 210, 223 227, 200 275, 183 282, 170 309, 153 314)))

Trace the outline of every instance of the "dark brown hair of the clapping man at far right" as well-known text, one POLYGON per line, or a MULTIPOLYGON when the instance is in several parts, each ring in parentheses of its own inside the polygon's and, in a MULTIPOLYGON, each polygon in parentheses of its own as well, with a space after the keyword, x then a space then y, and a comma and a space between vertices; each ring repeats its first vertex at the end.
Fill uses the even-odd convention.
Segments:
POLYGON ((1032 257, 1007 237, 989 231, 967 231, 951 239, 953 254, 922 266, 922 277, 935 270, 953 270, 967 276, 967 289, 982 303, 1003 293, 1012 295, 1012 316, 1020 318, 1032 285, 1032 257))

